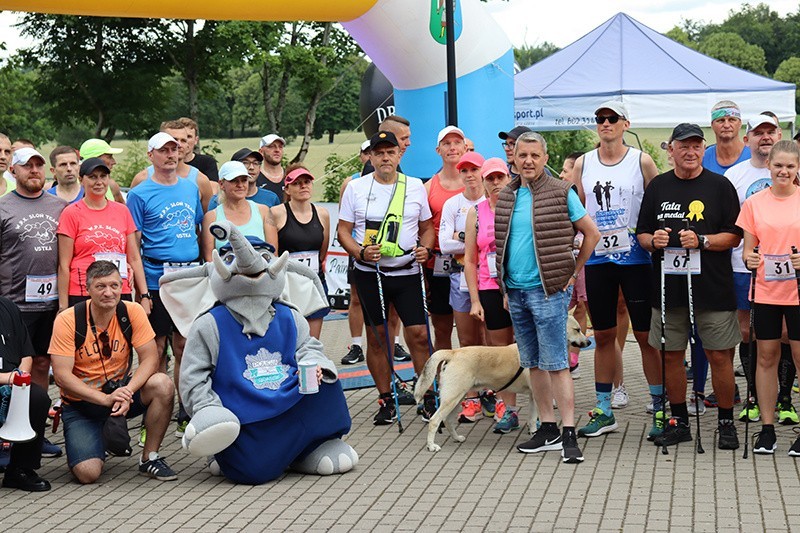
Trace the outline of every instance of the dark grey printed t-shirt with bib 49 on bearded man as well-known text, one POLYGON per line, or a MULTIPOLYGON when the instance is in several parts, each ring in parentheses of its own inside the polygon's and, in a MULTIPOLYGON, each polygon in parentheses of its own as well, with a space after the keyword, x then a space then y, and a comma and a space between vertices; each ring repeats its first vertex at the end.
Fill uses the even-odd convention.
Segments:
POLYGON ((0 198, 0 296, 20 311, 58 308, 56 229, 67 202, 53 194, 0 198))

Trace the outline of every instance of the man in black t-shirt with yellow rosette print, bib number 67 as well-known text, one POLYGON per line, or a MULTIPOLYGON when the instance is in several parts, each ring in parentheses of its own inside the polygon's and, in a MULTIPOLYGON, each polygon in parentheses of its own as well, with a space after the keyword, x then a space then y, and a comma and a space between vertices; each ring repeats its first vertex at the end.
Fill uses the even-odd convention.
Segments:
MULTIPOLYGON (((668 146, 675 169, 653 178, 644 191, 636 228, 639 243, 651 252, 653 302, 666 313, 666 381, 673 421, 655 439, 658 446, 692 440, 686 405, 683 360, 690 335, 686 259, 692 274, 692 304, 697 332, 712 369, 719 401, 719 442, 723 450, 739 447, 733 425, 733 350, 741 341, 731 249, 741 239, 736 227, 739 198, 727 178, 702 166, 705 139, 694 124, 675 127, 668 146), (688 221, 688 229, 686 224, 688 221), (665 229, 660 229, 664 223, 665 229), (663 263, 662 263, 663 256, 663 263), (664 266, 665 299, 660 276, 664 266)), ((653 309, 650 345, 661 347, 661 314, 653 309)))

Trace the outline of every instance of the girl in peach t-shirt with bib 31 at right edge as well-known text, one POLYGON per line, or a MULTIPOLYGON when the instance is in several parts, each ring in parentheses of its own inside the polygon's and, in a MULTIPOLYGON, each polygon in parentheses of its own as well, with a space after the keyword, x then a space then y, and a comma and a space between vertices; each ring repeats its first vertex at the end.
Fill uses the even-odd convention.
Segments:
MULTIPOLYGON (((800 149, 792 141, 775 143, 767 166, 772 186, 745 200, 736 221, 744 230, 742 259, 748 269, 756 270, 752 312, 758 342, 756 389, 763 423, 753 447, 757 454, 772 454, 778 447, 774 424, 782 337, 788 336, 792 358, 800 368, 800 281, 796 277, 800 254, 793 251, 800 246, 800 149)), ((788 401, 791 403, 791 398, 788 401)), ((800 437, 789 455, 800 456, 800 437)))

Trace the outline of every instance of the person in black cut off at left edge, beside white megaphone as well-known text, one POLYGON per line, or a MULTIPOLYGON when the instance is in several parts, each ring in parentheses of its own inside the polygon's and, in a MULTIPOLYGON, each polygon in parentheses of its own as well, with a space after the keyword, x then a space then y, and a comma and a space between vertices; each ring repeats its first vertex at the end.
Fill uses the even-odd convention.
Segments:
MULTIPOLYGON (((33 366, 34 349, 28 329, 22 321, 22 314, 8 298, 0 296, 0 386, 8 385, 14 377, 14 370, 30 372, 33 366)), ((18 401, 18 400, 15 400, 18 401)), ((39 385, 31 383, 28 416, 36 437, 28 442, 12 445, 3 487, 30 492, 50 490, 50 483, 36 473, 41 464, 42 444, 47 424, 47 410, 50 398, 39 385)), ((0 427, 2 425, 0 424, 0 427)), ((0 451, 0 461, 5 452, 0 451)))

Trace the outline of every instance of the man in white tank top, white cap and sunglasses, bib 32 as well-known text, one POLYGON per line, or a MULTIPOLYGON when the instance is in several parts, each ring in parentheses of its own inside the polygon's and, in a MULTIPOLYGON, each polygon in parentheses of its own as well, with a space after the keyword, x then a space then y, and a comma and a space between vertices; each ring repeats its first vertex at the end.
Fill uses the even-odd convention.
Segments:
MULTIPOLYGON (((617 357, 617 300, 620 288, 633 323, 633 333, 642 352, 642 366, 655 406, 653 429, 648 439, 663 428, 661 409, 661 362, 659 353, 647 342, 650 330, 650 254, 636 239, 636 222, 644 189, 658 169, 653 159, 623 141, 630 127, 628 110, 622 102, 605 102, 594 112, 599 147, 575 162, 580 176, 578 189, 586 210, 600 229, 602 238, 586 263, 586 295, 595 331, 595 392, 597 407, 589 424, 578 435, 597 437, 617 429, 611 411, 612 388, 621 358, 617 357)), ((620 382, 620 396, 626 396, 620 382)), ((618 407, 627 405, 619 401, 618 407)))

